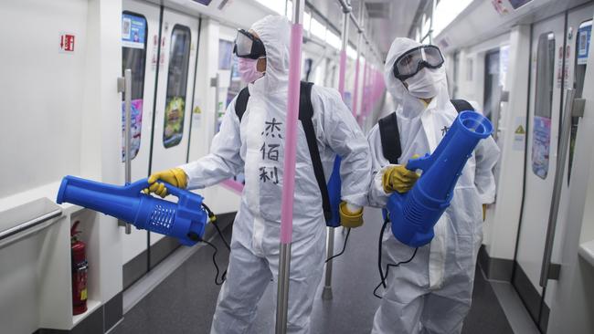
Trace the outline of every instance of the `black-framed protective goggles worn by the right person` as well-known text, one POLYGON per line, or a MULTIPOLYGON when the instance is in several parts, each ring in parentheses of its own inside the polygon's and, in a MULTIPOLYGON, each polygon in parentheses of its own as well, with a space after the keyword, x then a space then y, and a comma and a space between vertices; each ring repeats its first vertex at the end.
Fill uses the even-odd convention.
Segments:
POLYGON ((441 65, 443 65, 443 56, 439 47, 415 47, 396 59, 394 77, 404 81, 419 73, 422 68, 440 68, 441 65))

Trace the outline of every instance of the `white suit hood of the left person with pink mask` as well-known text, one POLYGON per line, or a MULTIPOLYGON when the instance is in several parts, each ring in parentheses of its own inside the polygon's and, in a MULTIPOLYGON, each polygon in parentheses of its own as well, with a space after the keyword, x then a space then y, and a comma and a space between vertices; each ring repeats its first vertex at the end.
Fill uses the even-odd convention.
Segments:
POLYGON ((268 91, 286 89, 289 82, 291 24, 285 16, 266 16, 251 26, 266 48, 266 75, 256 82, 268 91))

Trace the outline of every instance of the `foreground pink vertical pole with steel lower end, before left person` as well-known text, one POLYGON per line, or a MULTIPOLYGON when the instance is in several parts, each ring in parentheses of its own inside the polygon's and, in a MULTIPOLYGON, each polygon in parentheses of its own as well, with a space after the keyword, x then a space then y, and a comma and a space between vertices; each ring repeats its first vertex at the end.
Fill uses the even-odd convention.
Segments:
POLYGON ((287 332, 289 309, 289 277, 291 273, 292 213, 295 191, 295 162, 297 152, 297 120, 303 41, 304 0, 293 0, 293 24, 289 57, 289 91, 285 120, 284 163, 282 166, 281 240, 279 256, 278 293, 275 332, 287 332))

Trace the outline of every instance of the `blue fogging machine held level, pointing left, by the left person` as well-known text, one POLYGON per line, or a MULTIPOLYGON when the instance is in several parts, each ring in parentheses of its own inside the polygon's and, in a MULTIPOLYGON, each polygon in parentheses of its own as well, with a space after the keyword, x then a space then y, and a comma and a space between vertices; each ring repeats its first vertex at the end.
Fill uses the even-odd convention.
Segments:
POLYGON ((117 186, 65 176, 56 202, 77 204, 119 218, 138 229, 175 237, 182 245, 195 245, 202 240, 208 220, 203 197, 164 184, 177 197, 177 203, 143 193, 149 186, 147 179, 117 186))

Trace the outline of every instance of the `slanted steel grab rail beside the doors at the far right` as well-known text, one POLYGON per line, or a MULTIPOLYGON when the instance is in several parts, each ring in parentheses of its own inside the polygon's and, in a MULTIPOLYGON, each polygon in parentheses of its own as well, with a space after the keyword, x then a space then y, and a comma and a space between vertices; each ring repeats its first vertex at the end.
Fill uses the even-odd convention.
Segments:
POLYGON ((563 125, 561 128, 561 137, 557 150, 557 167, 555 170, 555 183, 553 185, 553 197, 551 198, 550 211, 548 213, 548 226, 546 227, 545 255, 540 270, 540 286, 546 287, 551 269, 551 256, 553 254, 553 244, 555 243, 555 230, 557 228, 557 217, 559 214, 559 203, 561 202, 561 191, 563 190, 565 173, 565 161, 567 160, 567 149, 569 147, 569 134, 571 133, 571 117, 573 111, 573 101, 575 97, 574 89, 566 90, 565 110, 563 110, 563 125))

